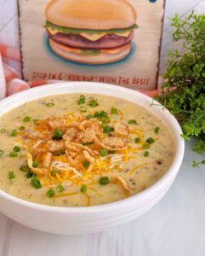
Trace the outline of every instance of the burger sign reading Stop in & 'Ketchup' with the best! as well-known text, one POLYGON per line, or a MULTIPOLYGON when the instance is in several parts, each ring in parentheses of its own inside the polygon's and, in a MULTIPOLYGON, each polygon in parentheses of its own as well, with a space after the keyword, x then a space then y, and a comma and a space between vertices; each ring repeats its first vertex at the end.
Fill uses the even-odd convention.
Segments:
POLYGON ((19 0, 26 80, 157 86, 164 0, 19 0))

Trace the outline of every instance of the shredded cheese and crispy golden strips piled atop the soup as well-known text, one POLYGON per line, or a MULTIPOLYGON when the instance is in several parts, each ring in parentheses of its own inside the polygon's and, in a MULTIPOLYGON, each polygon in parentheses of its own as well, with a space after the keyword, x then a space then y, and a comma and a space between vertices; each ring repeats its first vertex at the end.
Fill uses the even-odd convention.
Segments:
MULTIPOLYGON (((101 112, 102 111, 103 110, 101 110, 101 112)), ((90 114, 92 115, 93 113, 90 114)), ((123 119, 122 111, 118 110, 118 115, 115 115, 114 117, 109 115, 108 117, 111 119, 111 125, 116 124, 123 119)), ((113 134, 114 137, 117 137, 117 132, 116 134, 115 132, 113 134)), ((23 136, 25 135, 22 132, 20 137, 23 136)), ((76 192, 54 195, 54 198, 77 195, 82 184, 87 184, 88 189, 94 191, 95 195, 103 196, 98 193, 92 185, 96 185, 98 183, 98 178, 105 176, 107 173, 111 173, 112 176, 115 175, 116 171, 122 172, 125 170, 128 161, 136 158, 136 153, 144 149, 141 145, 145 143, 143 131, 135 128, 128 131, 128 135, 123 135, 122 137, 119 135, 119 137, 117 137, 118 142, 119 140, 122 141, 123 147, 118 149, 117 146, 116 153, 100 156, 100 149, 106 148, 103 148, 103 142, 107 137, 108 134, 103 132, 102 121, 100 119, 88 120, 82 114, 68 113, 63 117, 39 120, 38 125, 36 125, 34 130, 32 130, 32 136, 28 137, 26 143, 20 139, 16 139, 15 143, 20 143, 20 145, 23 145, 26 148, 27 164, 31 168, 32 172, 37 174, 37 177, 40 179, 43 187, 52 187, 56 189, 59 184, 64 184, 66 188, 71 186, 73 189, 73 187, 75 188, 75 186, 77 186, 79 189, 76 192), (98 130, 98 135, 95 136, 97 136, 99 143, 96 143, 93 140, 92 144, 83 145, 84 141, 80 140, 83 138, 83 133, 88 128, 88 124, 92 123, 95 125, 94 129, 98 130), (60 142, 55 140, 50 141, 51 139, 49 137, 54 135, 55 127, 51 128, 49 124, 60 127, 68 137, 73 132, 73 136, 77 137, 77 140, 71 140, 70 138, 64 139, 63 137, 60 142), (88 126, 86 126, 86 124, 88 126), (62 128, 60 125, 62 125, 62 128), (66 134, 66 129, 70 129, 71 127, 72 130, 66 134), (75 134, 76 130, 77 135, 75 134), (40 134, 44 137, 41 137, 39 140, 38 137, 33 136, 35 131, 37 131, 37 136, 40 134), (132 144, 134 136, 136 135, 141 139, 139 145, 132 144), (61 148, 62 145, 63 148, 61 148), (54 148, 52 148, 53 146, 54 148), (64 151, 62 154, 61 150, 64 151), (53 154, 55 151, 57 155, 53 154), (83 165, 85 161, 88 161, 88 167, 83 165), (38 162, 39 166, 33 167, 33 162, 38 162)), ((116 151, 115 146, 113 151, 116 151)), ((128 172, 128 175, 132 175, 136 170, 146 165, 148 164, 135 166, 128 172)), ((122 183, 124 189, 127 189, 128 191, 128 184, 126 181, 124 181, 122 177, 117 177, 117 179, 122 183)), ((83 195, 86 196, 87 205, 90 206, 91 195, 88 195, 87 193, 83 193, 83 195)))

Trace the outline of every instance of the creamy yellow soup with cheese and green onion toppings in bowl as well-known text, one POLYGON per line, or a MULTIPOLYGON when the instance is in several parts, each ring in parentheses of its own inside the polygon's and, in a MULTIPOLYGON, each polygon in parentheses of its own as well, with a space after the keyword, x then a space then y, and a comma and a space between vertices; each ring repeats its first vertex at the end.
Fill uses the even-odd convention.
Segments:
POLYGON ((119 201, 156 183, 173 158, 162 121, 116 97, 49 96, 0 117, 0 189, 26 201, 119 201))

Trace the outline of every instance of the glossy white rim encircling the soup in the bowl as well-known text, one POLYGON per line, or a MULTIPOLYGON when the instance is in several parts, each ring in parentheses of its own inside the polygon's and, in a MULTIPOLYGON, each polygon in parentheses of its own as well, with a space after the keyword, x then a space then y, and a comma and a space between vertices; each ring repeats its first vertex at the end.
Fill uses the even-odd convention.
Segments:
MULTIPOLYGON (((159 107, 157 111, 163 111, 163 113, 165 113, 167 115, 168 121, 170 124, 172 124, 174 126, 174 134, 175 135, 175 154, 174 154, 174 160, 171 164, 171 166, 169 166, 168 171, 156 182, 153 183, 149 188, 141 191, 140 193, 136 194, 136 195, 132 195, 128 198, 119 200, 119 201, 114 201, 114 202, 110 202, 110 203, 106 203, 103 205, 97 205, 97 206, 91 206, 91 207, 54 207, 54 206, 48 206, 48 205, 43 205, 43 204, 39 204, 36 202, 32 202, 32 201, 26 201, 23 199, 20 199, 18 197, 15 197, 14 195, 10 195, 7 192, 4 192, 2 189, 0 189, 0 197, 3 197, 3 199, 11 201, 13 203, 19 204, 22 207, 29 207, 31 209, 35 209, 35 210, 42 210, 45 212, 61 212, 61 213, 68 213, 68 212, 76 212, 76 213, 81 213, 81 212, 102 212, 102 211, 106 211, 106 210, 111 210, 111 209, 116 209, 116 208, 121 208, 121 207, 125 207, 128 204, 134 204, 136 201, 141 201, 143 200, 147 195, 150 195, 152 192, 154 192, 154 190, 156 190, 157 188, 159 189, 164 183, 168 182, 170 180, 171 177, 173 177, 173 175, 177 175, 177 173, 179 172, 179 167, 181 166, 183 157, 184 157, 184 152, 185 152, 185 141, 184 139, 180 136, 183 132, 179 126, 178 121, 174 118, 174 115, 172 113, 170 113, 168 111, 167 108, 162 107, 162 105, 157 102, 156 100, 153 100, 150 96, 146 96, 145 94, 141 93, 140 91, 137 90, 131 90, 119 85, 114 85, 114 84, 102 84, 102 83, 95 83, 95 82, 60 82, 60 83, 55 83, 55 84, 46 84, 46 85, 41 85, 35 88, 31 88, 29 90, 23 90, 20 91, 19 93, 14 94, 13 96, 8 96, 7 98, 3 99, 2 101, 0 101, 0 109, 2 107, 2 105, 8 105, 10 102, 14 102, 16 100, 18 100, 19 97, 26 97, 26 101, 25 102, 31 102, 34 101, 35 99, 39 99, 39 98, 43 98, 46 96, 52 96, 52 95, 62 95, 63 91, 61 93, 60 90, 65 89, 68 90, 66 91, 67 94, 71 94, 71 93, 94 93, 94 94, 99 94, 99 95, 105 95, 105 96, 109 96, 108 94, 105 94, 104 92, 102 92, 102 90, 100 89, 107 89, 107 90, 117 90, 118 92, 124 93, 124 95, 126 95, 126 93, 132 93, 136 96, 140 96, 142 99, 145 99, 145 101, 149 101, 149 102, 154 102, 159 107), (76 88, 79 89, 79 87, 81 86, 88 86, 85 90, 79 90, 79 91, 69 91, 69 89, 71 89, 71 87, 75 87, 74 90, 76 88), (97 89, 98 87, 98 91, 94 91, 95 89, 97 89), (49 94, 49 90, 56 90, 56 92, 54 94, 49 94), (90 89, 90 91, 86 91, 87 89, 90 89), (58 90, 58 91, 57 91, 58 90), (41 92, 46 92, 48 94, 46 94, 45 96, 37 96, 37 94, 41 93, 41 92), (32 98, 32 96, 34 98, 32 98), (176 134, 175 134, 176 133, 176 134)), ((113 96, 113 95, 110 95, 113 96)), ((126 100, 126 96, 122 97, 122 96, 114 96, 117 98, 122 98, 126 100)), ((132 102, 130 99, 127 98, 127 101, 132 102)), ((137 102, 134 102, 135 104, 138 104, 137 102)), ((15 106, 14 108, 17 108, 18 106, 22 105, 23 103, 17 104, 17 106, 15 106)), ((140 105, 140 104, 139 104, 140 105)), ((145 108, 144 106, 141 106, 142 108, 145 108)), ((154 106, 153 108, 156 108, 156 106, 154 106)), ((10 110, 14 109, 14 108, 9 108, 8 111, 3 111, 4 113, 8 113, 10 110)), ((3 114, 4 114, 3 113, 3 114)), ((0 113, 0 117, 3 115, 0 113)), ((156 114, 157 116, 157 114, 156 114)), ((158 119, 161 119, 157 116, 158 119)), ((162 120, 162 119, 161 119, 162 120)), ((163 120, 162 120, 163 121, 163 120)), ((166 125, 166 124, 164 124, 166 125)), ((168 125, 167 125, 168 126, 168 125)), ((170 131, 171 132, 171 131, 170 131)))

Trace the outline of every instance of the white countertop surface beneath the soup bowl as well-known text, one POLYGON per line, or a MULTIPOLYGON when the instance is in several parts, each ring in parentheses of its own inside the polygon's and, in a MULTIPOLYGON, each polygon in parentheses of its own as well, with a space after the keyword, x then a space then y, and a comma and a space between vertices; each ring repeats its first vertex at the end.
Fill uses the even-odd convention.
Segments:
POLYGON ((205 255, 204 154, 185 144, 185 158, 168 194, 140 218, 92 235, 57 236, 31 230, 0 213, 1 256, 203 256, 205 255))

